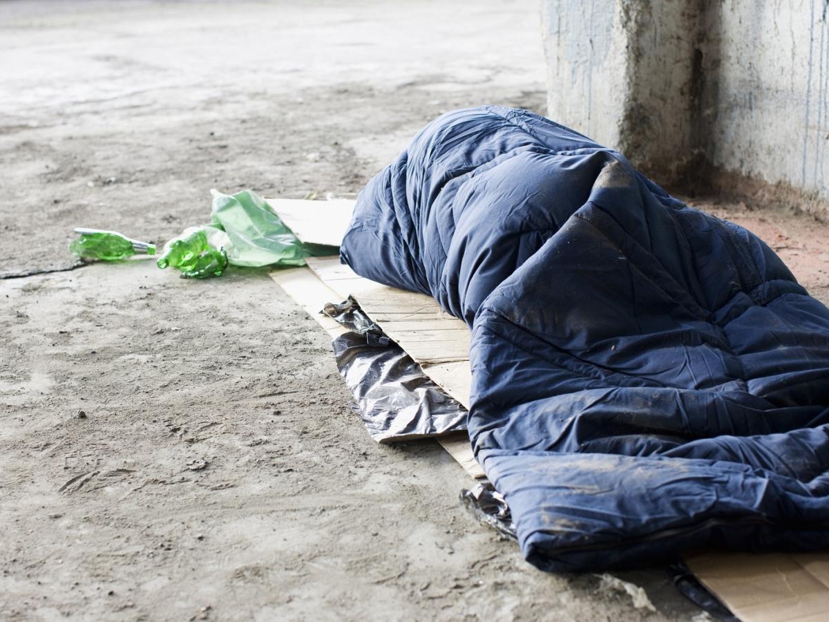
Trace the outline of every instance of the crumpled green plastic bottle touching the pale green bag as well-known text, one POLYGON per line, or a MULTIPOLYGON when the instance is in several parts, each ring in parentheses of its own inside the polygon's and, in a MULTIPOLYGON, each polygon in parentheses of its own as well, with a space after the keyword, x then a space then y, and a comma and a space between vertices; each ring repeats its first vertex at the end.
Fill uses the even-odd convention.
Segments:
POLYGON ((209 279, 221 276, 227 268, 227 235, 214 226, 191 226, 180 236, 164 245, 156 265, 167 268, 171 265, 182 271, 187 279, 209 279))

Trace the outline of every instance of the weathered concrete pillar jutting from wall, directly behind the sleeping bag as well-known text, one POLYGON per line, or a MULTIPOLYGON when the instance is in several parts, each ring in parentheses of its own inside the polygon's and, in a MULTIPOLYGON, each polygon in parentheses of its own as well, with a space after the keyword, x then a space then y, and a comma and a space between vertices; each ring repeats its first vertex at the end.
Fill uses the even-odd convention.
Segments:
POLYGON ((543 0, 548 115, 656 177, 694 157, 700 0, 543 0))

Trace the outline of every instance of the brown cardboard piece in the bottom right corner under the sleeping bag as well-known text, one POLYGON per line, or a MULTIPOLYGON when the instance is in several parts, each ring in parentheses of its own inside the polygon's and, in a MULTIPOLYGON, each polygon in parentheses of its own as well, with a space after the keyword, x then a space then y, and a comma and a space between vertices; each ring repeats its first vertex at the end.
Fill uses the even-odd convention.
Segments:
POLYGON ((826 552, 705 552, 685 561, 703 585, 743 622, 829 620, 826 552))

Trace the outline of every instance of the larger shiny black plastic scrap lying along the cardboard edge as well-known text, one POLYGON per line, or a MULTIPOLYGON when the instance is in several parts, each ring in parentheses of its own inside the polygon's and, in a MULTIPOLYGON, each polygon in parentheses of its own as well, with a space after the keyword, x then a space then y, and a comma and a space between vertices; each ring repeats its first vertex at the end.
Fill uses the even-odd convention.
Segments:
POLYGON ((349 297, 322 310, 349 329, 334 339, 337 369, 371 438, 393 443, 466 430, 467 411, 349 297))

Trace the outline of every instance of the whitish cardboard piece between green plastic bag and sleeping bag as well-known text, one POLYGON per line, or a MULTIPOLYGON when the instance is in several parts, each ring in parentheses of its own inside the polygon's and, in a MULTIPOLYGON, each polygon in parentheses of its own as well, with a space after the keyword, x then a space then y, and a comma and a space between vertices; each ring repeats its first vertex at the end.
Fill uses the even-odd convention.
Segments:
POLYGON ((354 199, 308 201, 265 199, 285 226, 305 244, 339 246, 351 221, 354 199))

